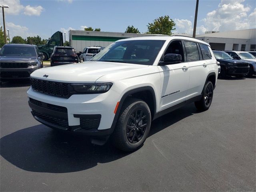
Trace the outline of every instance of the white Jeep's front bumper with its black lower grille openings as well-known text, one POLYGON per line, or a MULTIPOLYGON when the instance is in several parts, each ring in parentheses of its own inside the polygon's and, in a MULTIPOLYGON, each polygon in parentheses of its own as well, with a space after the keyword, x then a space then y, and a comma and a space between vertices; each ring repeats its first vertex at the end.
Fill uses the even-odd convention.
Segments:
POLYGON ((108 136, 114 130, 112 122, 118 100, 116 96, 108 97, 110 92, 72 95, 66 99, 41 94, 30 87, 27 94, 32 115, 42 124, 89 136, 108 136))

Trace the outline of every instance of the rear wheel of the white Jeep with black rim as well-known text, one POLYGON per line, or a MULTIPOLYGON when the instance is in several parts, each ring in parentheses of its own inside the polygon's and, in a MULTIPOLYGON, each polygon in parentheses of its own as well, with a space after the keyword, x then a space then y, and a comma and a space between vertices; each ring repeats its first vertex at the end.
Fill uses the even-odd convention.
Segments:
POLYGON ((200 111, 206 111, 210 108, 213 98, 213 85, 208 81, 203 89, 202 98, 200 101, 195 102, 195 106, 200 111))

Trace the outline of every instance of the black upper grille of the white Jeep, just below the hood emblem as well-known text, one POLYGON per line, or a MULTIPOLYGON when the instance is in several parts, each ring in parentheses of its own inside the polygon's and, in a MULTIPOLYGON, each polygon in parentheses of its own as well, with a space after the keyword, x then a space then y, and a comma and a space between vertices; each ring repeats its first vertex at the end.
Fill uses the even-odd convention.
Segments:
POLYGON ((40 80, 35 78, 31 78, 30 81, 34 91, 63 98, 68 98, 70 96, 70 84, 68 83, 40 80))

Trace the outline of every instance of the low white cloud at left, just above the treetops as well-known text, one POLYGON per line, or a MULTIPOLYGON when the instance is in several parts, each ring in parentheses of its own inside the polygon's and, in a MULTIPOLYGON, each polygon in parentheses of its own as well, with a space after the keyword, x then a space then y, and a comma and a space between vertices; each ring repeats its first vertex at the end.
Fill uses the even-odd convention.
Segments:
POLYGON ((28 36, 36 36, 38 34, 29 32, 29 29, 25 26, 16 25, 12 22, 6 22, 6 29, 9 29, 10 39, 14 36, 21 36, 27 38, 28 36))

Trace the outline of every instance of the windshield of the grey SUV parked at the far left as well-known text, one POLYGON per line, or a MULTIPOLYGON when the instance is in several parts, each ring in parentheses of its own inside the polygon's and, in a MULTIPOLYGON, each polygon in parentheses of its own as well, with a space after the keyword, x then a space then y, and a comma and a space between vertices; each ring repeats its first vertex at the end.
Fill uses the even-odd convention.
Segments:
POLYGON ((0 52, 1 56, 34 56, 36 57, 36 49, 30 46, 4 46, 0 52))

